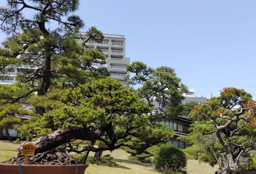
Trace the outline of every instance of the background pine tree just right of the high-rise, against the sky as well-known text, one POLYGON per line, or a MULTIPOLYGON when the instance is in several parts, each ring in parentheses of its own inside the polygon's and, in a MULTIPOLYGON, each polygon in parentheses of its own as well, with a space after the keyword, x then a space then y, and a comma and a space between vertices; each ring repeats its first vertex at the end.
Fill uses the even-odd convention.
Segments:
POLYGON ((143 84, 138 88, 138 93, 149 106, 152 106, 153 98, 162 103, 164 107, 156 109, 156 114, 174 117, 182 111, 181 100, 184 98, 182 93, 187 92, 188 89, 180 83, 181 79, 176 77, 174 69, 166 66, 153 69, 142 62, 132 62, 126 69, 134 73, 132 78, 127 77, 132 86, 143 84))

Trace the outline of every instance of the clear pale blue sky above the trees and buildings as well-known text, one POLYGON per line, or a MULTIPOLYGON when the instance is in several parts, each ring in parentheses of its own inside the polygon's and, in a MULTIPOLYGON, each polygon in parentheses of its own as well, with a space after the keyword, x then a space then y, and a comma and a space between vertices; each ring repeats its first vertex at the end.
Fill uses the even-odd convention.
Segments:
POLYGON ((87 27, 124 34, 131 62, 174 68, 196 96, 237 87, 255 100, 255 8, 254 0, 81 0, 76 14, 87 27))

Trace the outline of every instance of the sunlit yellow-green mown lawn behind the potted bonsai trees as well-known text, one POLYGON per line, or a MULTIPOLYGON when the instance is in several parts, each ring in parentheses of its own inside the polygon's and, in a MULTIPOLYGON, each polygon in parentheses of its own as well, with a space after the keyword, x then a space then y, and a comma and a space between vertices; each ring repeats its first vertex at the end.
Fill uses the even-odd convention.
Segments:
MULTIPOLYGON (((0 162, 9 160, 10 158, 17 155, 17 146, 19 143, 14 144, 8 141, 0 141, 0 162)), ((114 150, 112 153, 106 151, 103 155, 111 154, 114 157, 114 161, 119 165, 117 167, 109 167, 107 164, 92 165, 85 170, 86 174, 159 174, 150 165, 127 160, 130 155, 124 150, 114 150)), ((93 156, 93 153, 89 154, 88 161, 93 156)), ((208 164, 199 164, 196 160, 188 160, 187 172, 188 174, 214 174, 218 167, 212 168, 208 164)))

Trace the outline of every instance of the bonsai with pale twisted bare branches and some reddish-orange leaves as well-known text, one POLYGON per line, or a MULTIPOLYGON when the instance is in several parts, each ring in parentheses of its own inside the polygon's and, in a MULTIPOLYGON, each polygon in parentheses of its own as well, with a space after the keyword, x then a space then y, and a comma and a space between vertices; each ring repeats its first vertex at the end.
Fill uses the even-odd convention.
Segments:
POLYGON ((255 108, 251 94, 233 87, 196 105, 188 115, 195 120, 193 132, 185 139, 194 144, 198 160, 219 164, 218 174, 236 174, 242 158, 255 150, 255 108))

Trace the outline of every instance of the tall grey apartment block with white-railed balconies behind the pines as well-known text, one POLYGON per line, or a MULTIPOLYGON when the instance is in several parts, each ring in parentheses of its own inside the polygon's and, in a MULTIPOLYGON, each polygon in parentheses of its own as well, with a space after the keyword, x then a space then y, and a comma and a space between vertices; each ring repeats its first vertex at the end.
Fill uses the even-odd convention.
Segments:
MULTIPOLYGON (((85 32, 80 32, 82 37, 84 39, 87 38, 85 32)), ((79 35, 80 37, 80 35, 79 35)), ((106 56, 106 64, 101 65, 97 63, 92 63, 92 66, 102 67, 105 66, 108 71, 110 72, 110 75, 113 79, 119 80, 124 86, 126 86, 126 80, 124 79, 127 75, 129 75, 129 72, 126 70, 126 65, 130 64, 130 58, 125 57, 125 37, 121 34, 104 34, 104 40, 100 43, 94 42, 94 41, 88 41, 86 43, 85 49, 100 49, 102 53, 106 56)), ((76 42, 82 43, 82 39, 75 39, 76 42)), ((22 55, 19 55, 19 57, 22 55)), ((18 57, 18 58, 19 58, 18 57)), ((37 56, 35 56, 36 58, 37 56)), ((32 56, 33 59, 33 56, 32 56)), ((17 82, 15 80, 15 74, 19 72, 19 69, 21 68, 31 68, 31 69, 37 69, 37 66, 31 66, 31 65, 20 65, 20 67, 7 67, 6 68, 6 74, 2 75, 2 78, 0 78, 0 84, 12 84, 17 82), (10 71, 9 71, 9 70, 10 71), (8 77, 7 77, 8 75, 8 77), (3 77, 4 76, 4 77, 3 77)))

